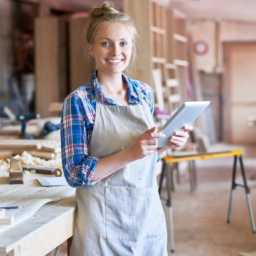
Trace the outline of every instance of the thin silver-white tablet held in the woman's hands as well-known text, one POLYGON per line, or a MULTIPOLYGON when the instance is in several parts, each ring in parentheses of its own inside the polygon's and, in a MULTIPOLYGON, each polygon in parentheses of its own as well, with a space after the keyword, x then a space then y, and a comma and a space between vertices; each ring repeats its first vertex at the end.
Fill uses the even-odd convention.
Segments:
POLYGON ((210 101, 187 101, 167 120, 167 122, 159 129, 166 137, 157 138, 158 146, 170 147, 172 143, 169 141, 170 136, 175 131, 180 131, 185 125, 192 124, 193 121, 209 106, 210 101))

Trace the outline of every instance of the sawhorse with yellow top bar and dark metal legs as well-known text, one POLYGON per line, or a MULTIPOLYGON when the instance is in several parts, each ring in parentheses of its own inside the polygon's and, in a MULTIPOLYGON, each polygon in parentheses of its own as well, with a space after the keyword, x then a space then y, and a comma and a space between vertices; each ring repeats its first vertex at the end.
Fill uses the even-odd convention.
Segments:
POLYGON ((161 160, 163 161, 163 166, 161 170, 161 176, 159 180, 159 195, 161 196, 161 189, 164 179, 164 173, 166 173, 166 184, 167 184, 167 193, 168 198, 161 198, 166 200, 166 205, 168 207, 169 217, 170 217, 170 244, 171 244, 171 252, 174 252, 174 241, 173 241, 173 221, 172 221, 172 200, 171 200, 171 177, 170 177, 170 166, 173 163, 179 163, 183 161, 195 161, 199 159, 209 159, 209 158, 216 158, 216 157, 227 157, 227 156, 234 156, 234 165, 233 165, 233 173, 232 173, 232 184, 231 184, 231 191, 230 191, 230 200, 229 200, 229 207, 228 207, 228 219, 227 222, 230 223, 230 216, 231 216, 231 208, 232 208, 232 200, 233 200, 233 193, 234 189, 237 186, 243 187, 246 193, 246 200, 248 204, 248 210, 250 214, 250 220, 252 223, 252 231, 255 233, 255 225, 253 220, 253 213, 252 207, 250 202, 250 188, 247 185, 246 175, 244 172, 244 165, 243 165, 243 150, 230 150, 230 151, 223 151, 223 152, 211 152, 211 153, 202 153, 202 154, 191 154, 191 155, 182 155, 182 156, 168 156, 163 157, 161 160), (236 169, 237 169, 237 159, 239 159, 241 173, 243 177, 243 184, 236 183, 236 169))

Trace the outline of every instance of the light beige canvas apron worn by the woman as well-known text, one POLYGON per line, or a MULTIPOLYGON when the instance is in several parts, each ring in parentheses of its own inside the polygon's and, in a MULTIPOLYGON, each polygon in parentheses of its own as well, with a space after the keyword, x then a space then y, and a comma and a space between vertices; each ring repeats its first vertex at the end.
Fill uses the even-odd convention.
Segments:
MULTIPOLYGON (((154 127, 145 102, 112 106, 97 100, 89 156, 130 147, 154 127)), ((166 221, 156 180, 157 151, 133 161, 93 186, 76 189, 72 256, 165 256, 166 221)))

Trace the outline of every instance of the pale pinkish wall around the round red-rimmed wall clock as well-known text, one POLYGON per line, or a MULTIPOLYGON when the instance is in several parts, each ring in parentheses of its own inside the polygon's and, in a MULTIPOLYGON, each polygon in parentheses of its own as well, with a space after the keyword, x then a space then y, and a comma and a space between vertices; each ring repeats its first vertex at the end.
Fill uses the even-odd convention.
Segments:
POLYGON ((204 40, 209 51, 196 55, 196 67, 204 72, 222 72, 223 42, 248 42, 256 40, 256 23, 216 20, 190 20, 188 31, 192 43, 204 40))

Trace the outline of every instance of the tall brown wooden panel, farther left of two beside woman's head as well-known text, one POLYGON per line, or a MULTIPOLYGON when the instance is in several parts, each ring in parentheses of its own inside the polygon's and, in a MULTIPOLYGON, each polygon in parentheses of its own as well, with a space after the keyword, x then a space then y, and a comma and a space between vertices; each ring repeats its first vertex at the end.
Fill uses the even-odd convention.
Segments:
MULTIPOLYGON (((51 102, 63 101, 67 95, 67 23, 56 17, 35 21, 36 113, 54 115, 51 102)), ((58 115, 58 113, 56 114, 58 115)))

